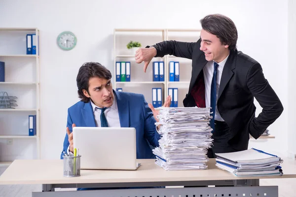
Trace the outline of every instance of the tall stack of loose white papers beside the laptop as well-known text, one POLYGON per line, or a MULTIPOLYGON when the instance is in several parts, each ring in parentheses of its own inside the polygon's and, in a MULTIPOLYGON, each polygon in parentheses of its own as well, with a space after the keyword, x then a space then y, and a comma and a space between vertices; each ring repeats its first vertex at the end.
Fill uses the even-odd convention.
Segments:
POLYGON ((159 107, 159 147, 155 164, 165 170, 207 169, 212 145, 210 108, 159 107))

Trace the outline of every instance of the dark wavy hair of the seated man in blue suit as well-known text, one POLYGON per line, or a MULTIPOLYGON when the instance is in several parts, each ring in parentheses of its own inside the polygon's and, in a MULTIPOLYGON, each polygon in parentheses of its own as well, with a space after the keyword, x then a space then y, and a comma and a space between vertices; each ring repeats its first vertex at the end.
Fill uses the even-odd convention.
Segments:
POLYGON ((104 79, 111 79, 112 74, 105 66, 102 66, 100 63, 96 62, 87 62, 84 63, 78 71, 76 77, 76 83, 78 88, 78 97, 83 102, 89 102, 89 98, 85 97, 82 90, 86 90, 89 94, 89 79, 92 77, 99 77, 104 79))

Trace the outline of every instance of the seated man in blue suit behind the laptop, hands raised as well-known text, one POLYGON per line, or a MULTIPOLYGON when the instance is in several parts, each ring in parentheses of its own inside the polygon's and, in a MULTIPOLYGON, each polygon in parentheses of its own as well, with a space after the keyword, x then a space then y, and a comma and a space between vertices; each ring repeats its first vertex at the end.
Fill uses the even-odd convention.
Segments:
MULTIPOLYGON (((160 135, 154 125, 157 110, 143 95, 114 91, 111 77, 111 72, 99 63, 80 67, 76 82, 81 100, 68 109, 63 151, 73 153, 73 127, 132 127, 137 132, 137 159, 154 158, 149 144, 158 146, 160 135)), ((163 106, 170 104, 169 96, 163 106)))

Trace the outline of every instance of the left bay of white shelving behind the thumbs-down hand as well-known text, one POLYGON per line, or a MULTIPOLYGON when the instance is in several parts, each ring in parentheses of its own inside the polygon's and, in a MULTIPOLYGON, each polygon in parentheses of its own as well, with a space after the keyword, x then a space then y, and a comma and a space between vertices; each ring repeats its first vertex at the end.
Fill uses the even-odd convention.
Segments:
MULTIPOLYGON (((153 58, 147 72, 143 71, 144 63, 137 64, 135 55, 126 48, 130 40, 139 41, 142 47, 151 43, 165 40, 163 29, 114 29, 114 74, 116 76, 116 62, 131 62, 131 81, 116 82, 113 88, 122 88, 124 92, 143 94, 148 103, 152 102, 152 88, 162 88, 162 100, 166 94, 166 81, 152 80, 152 62, 164 61, 165 58, 153 58), (145 87, 145 88, 143 88, 145 87)), ((114 77, 113 77, 114 78, 114 77)))

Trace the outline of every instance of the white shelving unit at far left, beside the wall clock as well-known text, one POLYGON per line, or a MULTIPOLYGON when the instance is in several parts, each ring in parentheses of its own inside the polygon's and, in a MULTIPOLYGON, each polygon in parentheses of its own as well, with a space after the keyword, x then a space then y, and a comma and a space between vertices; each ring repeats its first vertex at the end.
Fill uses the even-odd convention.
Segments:
POLYGON ((40 157, 39 36, 37 28, 0 28, 0 61, 5 63, 0 92, 16 96, 18 104, 15 109, 0 108, 0 165, 40 157), (26 55, 26 34, 33 33, 38 55, 26 55), (29 136, 29 115, 36 115, 34 136, 29 136))

